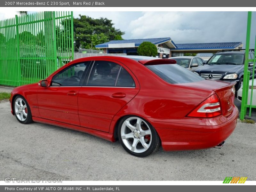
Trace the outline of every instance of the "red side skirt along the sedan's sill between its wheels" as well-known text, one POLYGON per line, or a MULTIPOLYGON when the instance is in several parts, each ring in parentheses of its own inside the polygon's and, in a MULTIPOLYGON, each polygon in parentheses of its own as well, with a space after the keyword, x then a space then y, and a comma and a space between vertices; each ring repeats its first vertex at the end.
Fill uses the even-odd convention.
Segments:
POLYGON ((49 119, 44 119, 44 118, 39 118, 39 117, 32 117, 32 119, 33 119, 33 121, 38 122, 38 123, 50 124, 50 125, 64 127, 67 129, 72 129, 72 130, 76 130, 76 131, 80 131, 80 132, 85 132, 85 133, 89 133, 91 135, 100 137, 102 139, 105 139, 105 140, 108 140, 111 142, 115 142, 114 134, 111 134, 111 133, 101 132, 101 131, 94 130, 94 129, 89 129, 89 128, 66 124, 66 123, 57 122, 57 121, 52 121, 49 119))

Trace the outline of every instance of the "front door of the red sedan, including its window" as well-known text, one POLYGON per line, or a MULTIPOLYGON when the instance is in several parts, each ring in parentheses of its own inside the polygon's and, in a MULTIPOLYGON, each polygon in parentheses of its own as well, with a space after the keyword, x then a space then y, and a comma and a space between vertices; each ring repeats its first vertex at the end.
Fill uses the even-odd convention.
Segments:
POLYGON ((52 77, 50 86, 38 89, 37 100, 41 118, 80 125, 77 95, 89 65, 90 62, 87 61, 64 68, 52 77), (76 70, 77 66, 79 71, 76 70), (81 71, 83 75, 79 77, 81 71))

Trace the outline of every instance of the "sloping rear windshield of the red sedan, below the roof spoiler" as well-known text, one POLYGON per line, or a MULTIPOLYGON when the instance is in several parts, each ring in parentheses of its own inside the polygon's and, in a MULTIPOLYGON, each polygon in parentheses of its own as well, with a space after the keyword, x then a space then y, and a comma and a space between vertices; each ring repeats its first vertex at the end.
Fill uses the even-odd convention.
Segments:
POLYGON ((171 84, 204 80, 204 78, 177 64, 146 65, 146 67, 161 77, 164 81, 171 84))

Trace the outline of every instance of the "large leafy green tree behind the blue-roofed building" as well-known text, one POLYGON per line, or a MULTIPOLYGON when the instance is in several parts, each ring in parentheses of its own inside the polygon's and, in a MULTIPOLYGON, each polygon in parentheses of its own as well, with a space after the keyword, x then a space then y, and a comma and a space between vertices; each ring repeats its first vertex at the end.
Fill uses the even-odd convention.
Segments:
POLYGON ((120 29, 113 27, 112 20, 101 17, 93 19, 89 16, 79 15, 79 18, 74 18, 74 40, 75 50, 79 47, 95 48, 95 45, 105 43, 111 40, 122 40, 122 32, 120 29))

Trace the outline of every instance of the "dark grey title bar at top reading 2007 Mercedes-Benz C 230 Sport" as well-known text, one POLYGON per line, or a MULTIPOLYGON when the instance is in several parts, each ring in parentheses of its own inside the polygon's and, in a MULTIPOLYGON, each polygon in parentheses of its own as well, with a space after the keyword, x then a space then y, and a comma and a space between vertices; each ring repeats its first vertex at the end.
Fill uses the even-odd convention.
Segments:
MULTIPOLYGON (((1 7, 256 7, 252 0, 18 0, 0 1, 1 7)), ((172 9, 170 11, 175 11, 172 9)), ((193 11, 193 10, 191 10, 193 11)))

